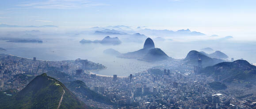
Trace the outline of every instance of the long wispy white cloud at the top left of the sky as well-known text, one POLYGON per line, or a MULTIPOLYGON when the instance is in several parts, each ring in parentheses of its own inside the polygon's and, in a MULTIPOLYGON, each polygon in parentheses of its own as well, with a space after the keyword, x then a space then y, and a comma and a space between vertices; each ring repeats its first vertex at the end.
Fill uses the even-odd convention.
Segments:
POLYGON ((85 0, 48 0, 46 2, 23 3, 17 6, 42 9, 79 9, 106 5, 108 4, 93 3, 85 0))

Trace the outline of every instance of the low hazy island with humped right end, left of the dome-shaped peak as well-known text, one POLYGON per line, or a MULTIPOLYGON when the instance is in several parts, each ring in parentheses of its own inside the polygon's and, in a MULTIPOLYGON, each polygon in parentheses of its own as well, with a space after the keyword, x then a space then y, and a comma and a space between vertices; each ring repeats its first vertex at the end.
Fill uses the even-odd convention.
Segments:
POLYGON ((82 39, 80 40, 81 44, 86 44, 86 43, 100 43, 100 44, 111 44, 111 45, 118 45, 121 44, 121 41, 118 39, 118 37, 110 37, 110 36, 106 36, 103 38, 103 40, 85 40, 82 39))

